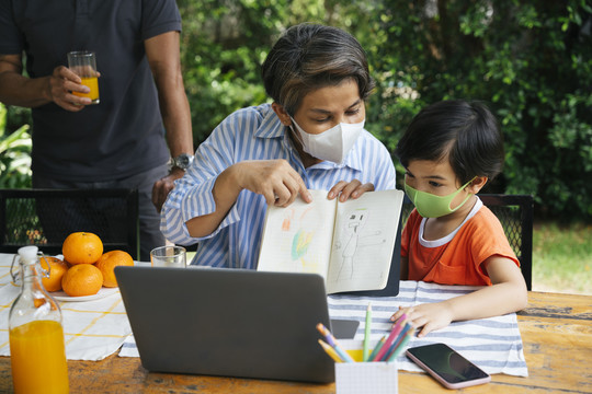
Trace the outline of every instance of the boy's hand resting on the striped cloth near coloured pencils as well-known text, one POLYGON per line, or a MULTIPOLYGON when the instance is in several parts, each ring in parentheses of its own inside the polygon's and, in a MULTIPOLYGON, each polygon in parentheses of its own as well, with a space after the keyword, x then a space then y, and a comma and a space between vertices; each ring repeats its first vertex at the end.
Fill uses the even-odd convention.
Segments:
POLYGON ((444 302, 424 303, 415 306, 399 306, 399 310, 390 316, 391 322, 396 322, 402 315, 415 328, 422 328, 418 337, 435 329, 444 328, 453 321, 453 315, 444 302))

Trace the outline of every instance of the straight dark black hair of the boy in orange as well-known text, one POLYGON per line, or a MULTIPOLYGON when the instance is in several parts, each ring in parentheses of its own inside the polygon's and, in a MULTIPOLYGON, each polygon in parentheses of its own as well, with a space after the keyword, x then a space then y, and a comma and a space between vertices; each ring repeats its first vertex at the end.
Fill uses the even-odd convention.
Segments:
POLYGON ((504 161, 498 120, 479 102, 442 101, 423 108, 405 131, 395 151, 407 167, 411 160, 441 161, 448 157, 465 184, 475 176, 498 175, 504 161))

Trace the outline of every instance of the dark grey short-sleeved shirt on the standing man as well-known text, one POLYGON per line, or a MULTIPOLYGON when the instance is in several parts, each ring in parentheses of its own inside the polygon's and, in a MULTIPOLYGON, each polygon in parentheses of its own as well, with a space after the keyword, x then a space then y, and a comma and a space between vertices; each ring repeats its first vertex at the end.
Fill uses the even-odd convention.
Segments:
POLYGON ((174 0, 0 0, 0 54, 24 51, 31 78, 96 53, 100 104, 33 108, 36 176, 111 181, 153 169, 169 152, 144 40, 181 30, 174 0))

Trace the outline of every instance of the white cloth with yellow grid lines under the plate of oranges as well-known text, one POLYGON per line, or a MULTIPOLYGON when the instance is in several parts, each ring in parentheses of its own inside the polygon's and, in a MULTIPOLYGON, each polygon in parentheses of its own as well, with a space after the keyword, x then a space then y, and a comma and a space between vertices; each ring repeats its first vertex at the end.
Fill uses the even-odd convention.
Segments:
MULTIPOLYGON (((0 356, 10 356, 9 311, 20 292, 10 275, 12 257, 0 254, 0 356)), ((69 360, 102 360, 117 351, 132 334, 118 289, 93 301, 58 303, 69 360)))

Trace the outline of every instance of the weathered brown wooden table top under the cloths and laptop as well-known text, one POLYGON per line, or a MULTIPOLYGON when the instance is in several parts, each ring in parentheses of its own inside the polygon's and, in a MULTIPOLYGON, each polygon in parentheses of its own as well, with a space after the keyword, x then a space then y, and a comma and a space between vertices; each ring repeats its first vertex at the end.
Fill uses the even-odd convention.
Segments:
MULTIPOLYGON (((470 393, 592 393, 592 297, 528 293, 519 313, 528 378, 492 375, 470 393)), ((68 361, 71 393, 334 393, 334 384, 148 373, 138 358, 68 361)), ((10 358, 0 357, 0 392, 12 391, 10 358)), ((399 393, 449 393, 424 373, 399 372, 399 393)))

